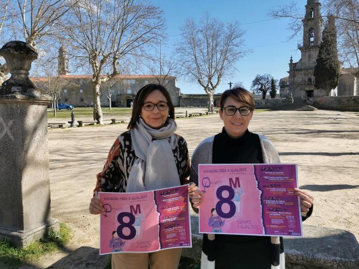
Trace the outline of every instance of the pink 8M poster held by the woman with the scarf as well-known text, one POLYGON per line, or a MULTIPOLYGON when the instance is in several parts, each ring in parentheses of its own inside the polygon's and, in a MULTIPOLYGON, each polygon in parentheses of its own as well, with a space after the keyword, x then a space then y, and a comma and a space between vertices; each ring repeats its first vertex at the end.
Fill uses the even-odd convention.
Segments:
POLYGON ((161 190, 99 192, 100 254, 192 247, 188 185, 161 190))

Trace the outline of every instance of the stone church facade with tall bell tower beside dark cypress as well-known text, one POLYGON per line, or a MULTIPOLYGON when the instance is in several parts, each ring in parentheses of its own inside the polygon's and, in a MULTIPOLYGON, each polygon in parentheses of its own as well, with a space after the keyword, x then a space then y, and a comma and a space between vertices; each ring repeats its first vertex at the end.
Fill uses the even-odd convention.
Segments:
MULTIPOLYGON (((295 100, 328 96, 325 90, 314 87, 315 78, 313 73, 322 40, 323 24, 319 0, 307 0, 305 18, 302 21, 303 44, 298 45, 298 49, 301 51, 301 59, 294 63, 291 56, 288 71, 289 76, 279 80, 279 94, 282 98, 291 94, 295 100)), ((329 96, 359 95, 358 86, 359 69, 349 70, 343 68, 338 87, 331 90, 329 96)))

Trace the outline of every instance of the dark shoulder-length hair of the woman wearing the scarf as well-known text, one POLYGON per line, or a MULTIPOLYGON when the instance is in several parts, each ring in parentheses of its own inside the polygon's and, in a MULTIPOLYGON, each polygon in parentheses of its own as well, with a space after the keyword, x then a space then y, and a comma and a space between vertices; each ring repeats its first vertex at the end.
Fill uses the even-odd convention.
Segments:
POLYGON ((173 106, 171 96, 169 95, 167 89, 164 88, 160 84, 147 84, 146 86, 143 86, 137 92, 137 94, 136 94, 136 96, 135 96, 135 98, 133 100, 131 120, 130 120, 129 125, 127 126, 127 128, 129 130, 136 127, 137 121, 140 118, 142 107, 143 107, 143 104, 145 103, 146 97, 150 93, 152 93, 153 91, 156 91, 156 90, 160 91, 164 95, 164 97, 166 97, 167 105, 168 105, 169 118, 173 119, 173 120, 175 119, 175 107, 173 106))

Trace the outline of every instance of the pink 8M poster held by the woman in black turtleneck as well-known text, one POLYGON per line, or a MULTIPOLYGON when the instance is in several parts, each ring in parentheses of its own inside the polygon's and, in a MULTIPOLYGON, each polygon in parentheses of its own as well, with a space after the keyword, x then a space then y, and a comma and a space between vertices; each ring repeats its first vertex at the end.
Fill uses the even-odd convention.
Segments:
POLYGON ((295 164, 199 164, 199 232, 301 237, 295 164))

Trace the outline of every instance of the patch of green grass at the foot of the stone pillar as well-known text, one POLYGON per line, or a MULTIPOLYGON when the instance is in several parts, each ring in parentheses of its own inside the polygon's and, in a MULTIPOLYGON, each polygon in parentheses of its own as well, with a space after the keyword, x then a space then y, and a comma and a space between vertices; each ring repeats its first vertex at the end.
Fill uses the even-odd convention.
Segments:
POLYGON ((18 268, 46 253, 57 252, 70 238, 70 230, 64 223, 60 223, 59 232, 51 230, 48 236, 32 242, 27 248, 15 247, 6 240, 0 241, 0 268, 18 268))

